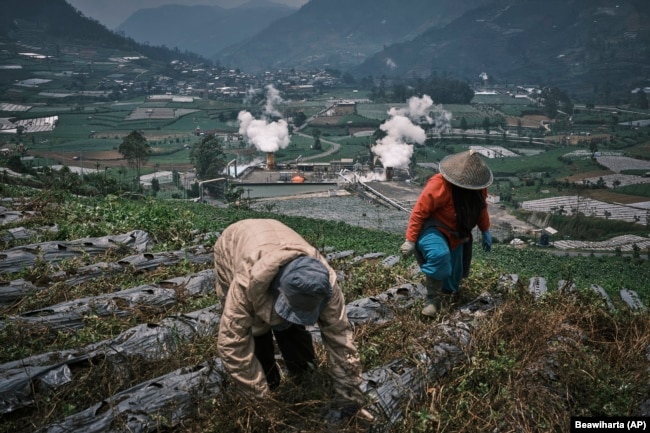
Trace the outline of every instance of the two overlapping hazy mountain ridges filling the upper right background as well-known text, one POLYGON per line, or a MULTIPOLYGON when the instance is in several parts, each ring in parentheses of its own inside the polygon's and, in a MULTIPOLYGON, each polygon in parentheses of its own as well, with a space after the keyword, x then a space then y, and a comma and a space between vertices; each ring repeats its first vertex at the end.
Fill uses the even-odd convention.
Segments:
POLYGON ((243 70, 332 67, 357 77, 450 75, 629 94, 650 77, 647 0, 311 0, 223 50, 243 70))

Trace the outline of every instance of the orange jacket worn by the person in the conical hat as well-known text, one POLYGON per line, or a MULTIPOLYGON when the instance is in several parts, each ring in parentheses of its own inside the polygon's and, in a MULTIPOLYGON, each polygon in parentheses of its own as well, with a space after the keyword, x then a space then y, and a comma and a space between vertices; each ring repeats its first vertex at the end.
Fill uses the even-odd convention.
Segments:
MULTIPOLYGON (((487 198, 487 188, 482 190, 482 194, 484 199, 487 198)), ((417 202, 415 202, 415 206, 413 206, 408 226, 406 227, 406 240, 417 242, 422 226, 429 218, 442 223, 451 230, 457 230, 456 210, 451 195, 451 184, 439 173, 431 176, 424 189, 422 189, 417 202)), ((482 232, 490 229, 490 215, 488 214, 487 206, 481 211, 477 225, 482 232)), ((453 250, 463 243, 462 239, 453 236, 444 227, 438 227, 438 229, 449 240, 450 249, 453 250)))

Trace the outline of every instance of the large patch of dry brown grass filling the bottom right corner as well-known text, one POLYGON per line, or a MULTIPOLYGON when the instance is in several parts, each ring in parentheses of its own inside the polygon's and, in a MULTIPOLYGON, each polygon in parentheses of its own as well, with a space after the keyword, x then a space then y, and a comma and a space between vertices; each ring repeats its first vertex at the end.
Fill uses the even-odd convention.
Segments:
POLYGON ((510 297, 473 336, 470 362, 431 384, 410 431, 565 432, 570 415, 634 415, 648 392, 650 319, 599 304, 588 293, 510 297))

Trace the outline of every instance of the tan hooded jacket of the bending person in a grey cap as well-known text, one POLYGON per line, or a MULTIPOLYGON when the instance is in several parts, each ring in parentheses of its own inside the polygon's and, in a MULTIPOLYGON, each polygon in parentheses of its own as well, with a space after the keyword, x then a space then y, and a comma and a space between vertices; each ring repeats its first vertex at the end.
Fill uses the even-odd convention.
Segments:
POLYGON ((264 397, 268 384, 254 356, 253 336, 282 323, 269 290, 280 267, 299 256, 318 258, 329 270, 332 297, 318 318, 338 396, 363 402, 361 363, 335 271, 298 233, 273 219, 248 219, 227 227, 214 245, 217 295, 223 305, 219 354, 241 388, 264 397))

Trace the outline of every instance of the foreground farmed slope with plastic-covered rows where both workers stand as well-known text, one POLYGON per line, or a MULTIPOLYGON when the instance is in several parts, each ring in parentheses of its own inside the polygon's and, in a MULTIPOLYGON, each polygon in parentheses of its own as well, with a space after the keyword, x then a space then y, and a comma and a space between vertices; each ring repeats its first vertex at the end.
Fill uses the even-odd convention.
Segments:
POLYGON ((293 227, 338 270, 374 428, 560 432, 571 415, 649 415, 647 310, 578 282, 612 293, 613 272, 622 285, 650 281, 647 260, 476 249, 461 296, 423 320, 421 276, 394 255, 400 236, 4 183, 0 196, 0 431, 367 431, 338 419, 324 368, 306 386, 283 382, 269 405, 231 392, 215 347, 210 248, 231 222, 260 217, 293 227), (540 271, 575 275, 576 287, 542 290, 540 271))

